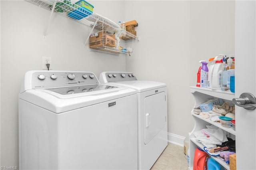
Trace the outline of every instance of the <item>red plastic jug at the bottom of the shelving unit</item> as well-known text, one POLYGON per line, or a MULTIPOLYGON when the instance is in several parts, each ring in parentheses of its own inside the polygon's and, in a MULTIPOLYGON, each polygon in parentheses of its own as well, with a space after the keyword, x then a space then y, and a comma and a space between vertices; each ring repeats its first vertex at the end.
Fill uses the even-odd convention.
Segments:
POLYGON ((207 170, 207 160, 210 156, 200 148, 194 154, 193 170, 207 170))

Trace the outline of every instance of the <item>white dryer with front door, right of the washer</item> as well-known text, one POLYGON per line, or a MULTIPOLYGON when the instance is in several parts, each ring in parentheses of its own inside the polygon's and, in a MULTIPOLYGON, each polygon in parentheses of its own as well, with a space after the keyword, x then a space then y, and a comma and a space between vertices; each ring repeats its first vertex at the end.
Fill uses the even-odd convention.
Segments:
POLYGON ((127 72, 102 72, 99 80, 137 91, 138 169, 149 170, 168 144, 166 84, 138 81, 133 73, 127 72))

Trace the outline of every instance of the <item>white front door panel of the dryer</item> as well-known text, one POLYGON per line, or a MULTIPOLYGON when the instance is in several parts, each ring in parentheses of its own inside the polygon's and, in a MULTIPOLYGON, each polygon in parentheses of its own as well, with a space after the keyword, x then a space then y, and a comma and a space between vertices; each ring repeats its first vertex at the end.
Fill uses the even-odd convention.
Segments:
POLYGON ((144 99, 144 144, 148 144, 166 124, 167 105, 165 93, 157 93, 144 99))

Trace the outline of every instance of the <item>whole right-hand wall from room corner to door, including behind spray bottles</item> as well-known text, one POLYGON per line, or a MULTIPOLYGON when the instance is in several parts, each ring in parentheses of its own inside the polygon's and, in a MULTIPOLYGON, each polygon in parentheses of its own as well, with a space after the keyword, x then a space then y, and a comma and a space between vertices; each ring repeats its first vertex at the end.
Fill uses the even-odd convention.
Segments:
POLYGON ((125 9, 141 39, 126 70, 167 84, 168 132, 186 136, 194 126, 189 86, 198 61, 234 54, 234 1, 126 1, 125 9))

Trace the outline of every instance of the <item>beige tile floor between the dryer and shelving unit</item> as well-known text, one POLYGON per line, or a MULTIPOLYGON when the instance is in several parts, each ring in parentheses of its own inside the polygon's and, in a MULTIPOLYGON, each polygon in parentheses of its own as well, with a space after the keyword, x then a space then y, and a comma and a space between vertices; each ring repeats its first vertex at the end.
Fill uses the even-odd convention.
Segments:
POLYGON ((183 146, 168 143, 150 170, 188 170, 187 159, 183 155, 183 146))

